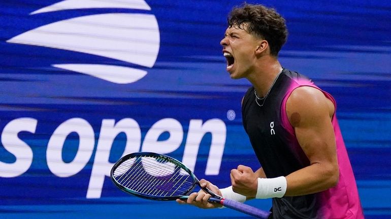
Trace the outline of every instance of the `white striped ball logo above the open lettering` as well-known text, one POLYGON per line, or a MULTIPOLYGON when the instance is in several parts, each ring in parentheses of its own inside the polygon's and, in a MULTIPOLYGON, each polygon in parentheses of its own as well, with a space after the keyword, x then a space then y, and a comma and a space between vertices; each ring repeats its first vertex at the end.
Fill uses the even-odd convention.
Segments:
MULTIPOLYGON (((66 0, 31 14, 86 8, 150 10, 142 0, 66 0)), ((87 53, 151 68, 159 51, 160 35, 154 15, 110 13, 54 22, 24 32, 7 42, 87 53)), ((52 66, 114 83, 132 83, 147 74, 141 69, 105 64, 67 63, 52 66)))

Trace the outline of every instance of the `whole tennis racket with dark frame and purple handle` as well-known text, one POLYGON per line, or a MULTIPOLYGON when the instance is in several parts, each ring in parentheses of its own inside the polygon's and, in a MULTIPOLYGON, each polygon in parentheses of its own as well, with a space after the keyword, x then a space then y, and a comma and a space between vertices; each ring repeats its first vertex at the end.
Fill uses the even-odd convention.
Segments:
MULTIPOLYGON (((194 187, 200 186, 200 181, 183 163, 150 152, 125 155, 114 164, 110 177, 121 190, 152 200, 187 199, 194 187)), ((208 188, 202 189, 212 195, 209 202, 220 203, 257 218, 266 219, 270 215, 270 212, 222 198, 208 188)))

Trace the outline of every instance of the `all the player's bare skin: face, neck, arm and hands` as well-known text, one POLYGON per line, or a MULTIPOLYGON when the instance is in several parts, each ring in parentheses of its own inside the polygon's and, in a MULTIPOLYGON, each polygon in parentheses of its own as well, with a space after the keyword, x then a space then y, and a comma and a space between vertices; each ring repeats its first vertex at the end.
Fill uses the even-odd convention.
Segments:
MULTIPOLYGON (((268 41, 258 38, 236 26, 227 28, 220 44, 223 53, 229 53, 235 60, 226 70, 231 78, 246 78, 254 86, 257 94, 264 97, 277 73, 282 69, 277 57, 270 55, 268 41)), ((338 182, 339 169, 336 156, 336 142, 331 116, 334 105, 319 90, 303 86, 295 89, 286 102, 286 113, 294 127, 297 140, 310 160, 309 166, 286 176, 285 196, 298 196, 321 192, 338 182)), ((239 165, 231 170, 233 191, 245 195, 247 199, 255 197, 257 178, 265 178, 262 168, 253 172, 250 167, 239 165)), ((216 186, 208 181, 205 186, 219 193, 216 186)), ((218 207, 208 203, 210 195, 203 191, 192 193, 188 203, 201 208, 218 207)))

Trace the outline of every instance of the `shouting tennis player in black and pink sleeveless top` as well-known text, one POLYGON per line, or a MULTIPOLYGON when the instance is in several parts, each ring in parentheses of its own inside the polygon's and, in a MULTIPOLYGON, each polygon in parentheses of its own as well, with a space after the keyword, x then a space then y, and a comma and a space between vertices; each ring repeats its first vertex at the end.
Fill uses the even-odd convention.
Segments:
MULTIPOLYGON (((306 76, 281 67, 277 57, 286 38, 285 20, 274 9, 244 4, 230 13, 220 44, 231 78, 252 84, 242 119, 262 168, 239 165, 228 188, 201 184, 241 202, 273 198, 270 218, 362 219, 336 102, 306 76)), ((220 207, 209 197, 200 191, 177 202, 220 207)))

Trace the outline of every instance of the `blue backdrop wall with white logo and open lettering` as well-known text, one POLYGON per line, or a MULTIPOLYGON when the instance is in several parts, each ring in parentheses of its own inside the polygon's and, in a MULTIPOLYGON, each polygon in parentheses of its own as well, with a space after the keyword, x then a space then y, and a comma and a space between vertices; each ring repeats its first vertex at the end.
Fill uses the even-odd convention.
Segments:
MULTIPOLYGON (((138 199, 107 177, 135 151, 219 187, 259 167, 241 123, 249 83, 230 79, 219 45, 241 3, 1 1, 0 217, 249 218, 138 199)), ((391 2, 249 3, 285 17, 280 62, 335 97, 366 218, 391 218, 391 2)))

